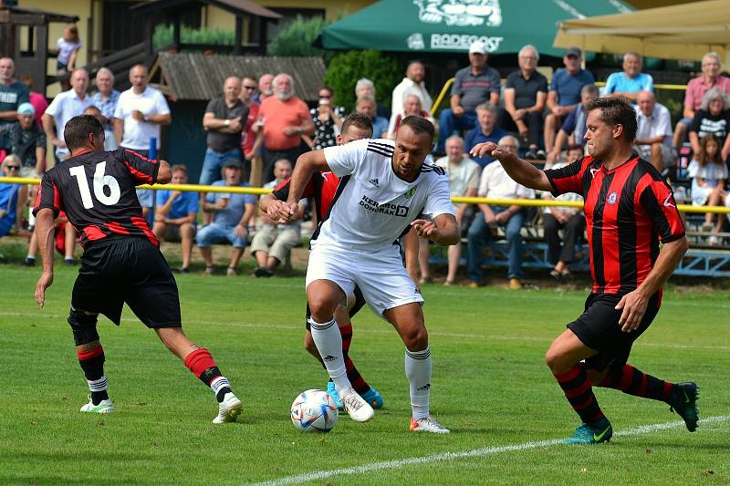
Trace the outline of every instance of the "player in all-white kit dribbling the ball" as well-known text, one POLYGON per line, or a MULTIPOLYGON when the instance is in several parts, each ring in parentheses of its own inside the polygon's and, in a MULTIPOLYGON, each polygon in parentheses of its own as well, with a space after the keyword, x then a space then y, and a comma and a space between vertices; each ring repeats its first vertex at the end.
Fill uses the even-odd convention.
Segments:
POLYGON ((357 284, 376 314, 395 327, 405 344, 410 383, 411 430, 448 433, 430 412, 431 350, 423 323, 423 298, 403 268, 401 234, 411 227, 435 243, 459 241, 459 225, 441 168, 424 163, 433 145, 427 119, 401 121, 395 142, 357 140, 308 152, 297 160, 282 221, 296 217, 297 202, 314 171, 332 171, 339 187, 327 217, 312 236, 307 269, 311 332, 349 416, 370 420, 374 411, 352 389, 334 319, 357 284))

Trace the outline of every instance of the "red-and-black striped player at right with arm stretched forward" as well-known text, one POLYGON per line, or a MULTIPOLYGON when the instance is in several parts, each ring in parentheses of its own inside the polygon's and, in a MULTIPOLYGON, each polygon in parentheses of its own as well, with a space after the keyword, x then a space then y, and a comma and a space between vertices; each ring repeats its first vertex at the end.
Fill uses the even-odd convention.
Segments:
POLYGON ((627 364, 631 345, 652 324, 662 284, 689 244, 672 189, 651 163, 632 153, 636 112, 625 98, 598 98, 586 107, 589 156, 554 171, 538 171, 495 144, 491 154, 527 187, 554 195, 577 192, 584 212, 593 288, 585 311, 547 350, 547 366, 583 422, 567 440, 604 442, 613 433, 593 386, 666 402, 691 432, 697 427, 696 383, 670 383, 627 364), (660 252, 660 245, 662 250, 660 252))

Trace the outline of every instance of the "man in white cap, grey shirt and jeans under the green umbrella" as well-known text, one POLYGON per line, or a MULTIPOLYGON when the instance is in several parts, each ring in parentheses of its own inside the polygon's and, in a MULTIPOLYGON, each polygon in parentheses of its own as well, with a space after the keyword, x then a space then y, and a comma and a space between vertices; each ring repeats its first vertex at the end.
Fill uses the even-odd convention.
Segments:
MULTIPOLYGON (((437 152, 443 152, 446 139, 454 130, 473 129, 476 125, 476 108, 489 101, 499 103, 499 73, 486 65, 486 47, 476 41, 469 47, 469 67, 456 71, 451 88, 451 109, 443 109, 439 115, 439 141, 437 152)), ((468 143, 467 143, 468 145, 468 143)))

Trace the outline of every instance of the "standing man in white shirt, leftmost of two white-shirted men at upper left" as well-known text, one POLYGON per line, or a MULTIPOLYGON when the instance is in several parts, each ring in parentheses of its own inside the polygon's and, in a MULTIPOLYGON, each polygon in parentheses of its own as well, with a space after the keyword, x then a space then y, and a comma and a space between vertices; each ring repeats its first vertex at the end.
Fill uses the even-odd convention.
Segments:
POLYGON ((53 98, 43 114, 43 129, 48 140, 56 147, 56 160, 68 158, 68 149, 63 139, 63 130, 69 119, 78 117, 89 108, 93 101, 87 96, 89 73, 86 69, 76 69, 71 73, 71 88, 53 98))

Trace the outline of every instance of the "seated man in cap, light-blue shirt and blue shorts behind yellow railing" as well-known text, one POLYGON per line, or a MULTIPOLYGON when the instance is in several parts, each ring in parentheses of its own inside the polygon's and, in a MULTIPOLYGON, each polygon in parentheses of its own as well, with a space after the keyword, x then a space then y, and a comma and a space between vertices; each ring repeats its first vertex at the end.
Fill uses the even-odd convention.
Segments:
MULTIPOLYGON (((214 186, 246 187, 248 182, 241 181, 241 162, 229 159, 224 162, 222 181, 215 181, 214 186)), ((228 276, 238 273, 235 268, 244 254, 248 237, 248 223, 255 214, 256 198, 253 194, 234 194, 230 192, 208 192, 203 202, 203 211, 213 212, 213 222, 201 228, 196 240, 205 262, 205 274, 213 274, 213 252, 215 243, 232 243, 231 262, 228 264, 228 276)))

